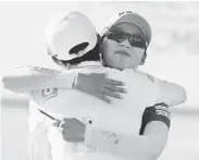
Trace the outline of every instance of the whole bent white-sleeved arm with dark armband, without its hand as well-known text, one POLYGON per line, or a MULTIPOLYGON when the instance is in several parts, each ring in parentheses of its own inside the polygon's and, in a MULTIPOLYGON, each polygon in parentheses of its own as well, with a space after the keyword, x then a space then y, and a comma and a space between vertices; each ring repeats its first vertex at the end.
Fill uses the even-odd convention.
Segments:
POLYGON ((87 125, 85 144, 120 157, 154 160, 161 155, 167 140, 170 119, 165 116, 163 109, 157 106, 145 112, 144 118, 147 116, 147 119, 144 119, 142 136, 117 135, 87 125))

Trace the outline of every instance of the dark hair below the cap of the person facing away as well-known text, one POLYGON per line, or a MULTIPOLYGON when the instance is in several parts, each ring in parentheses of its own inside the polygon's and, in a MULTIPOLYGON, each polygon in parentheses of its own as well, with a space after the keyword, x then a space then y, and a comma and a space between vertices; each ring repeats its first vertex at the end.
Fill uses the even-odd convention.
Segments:
POLYGON ((79 63, 86 62, 86 61, 100 61, 100 36, 99 36, 99 34, 97 36, 98 36, 98 41, 97 41, 95 48, 92 50, 88 51, 83 57, 75 58, 75 59, 67 60, 67 61, 59 60, 59 59, 52 57, 52 60, 57 64, 58 64, 58 61, 62 62, 67 69, 75 67, 79 63))

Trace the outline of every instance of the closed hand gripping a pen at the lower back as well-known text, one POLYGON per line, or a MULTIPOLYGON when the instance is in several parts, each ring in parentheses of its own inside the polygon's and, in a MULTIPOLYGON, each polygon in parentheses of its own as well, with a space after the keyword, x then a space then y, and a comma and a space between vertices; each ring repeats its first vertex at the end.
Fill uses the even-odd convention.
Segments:
POLYGON ((60 127, 64 140, 71 143, 84 141, 86 125, 76 118, 64 119, 60 127))

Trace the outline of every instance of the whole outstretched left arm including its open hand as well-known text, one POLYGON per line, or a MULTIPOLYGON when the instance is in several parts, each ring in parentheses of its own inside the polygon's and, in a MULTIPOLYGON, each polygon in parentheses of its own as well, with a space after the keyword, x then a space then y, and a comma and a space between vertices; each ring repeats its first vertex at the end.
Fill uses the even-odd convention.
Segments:
POLYGON ((38 66, 24 66, 3 76, 4 88, 14 93, 30 93, 47 88, 77 89, 110 102, 107 96, 120 99, 117 93, 125 93, 122 82, 109 79, 105 74, 82 74, 49 70, 38 66))

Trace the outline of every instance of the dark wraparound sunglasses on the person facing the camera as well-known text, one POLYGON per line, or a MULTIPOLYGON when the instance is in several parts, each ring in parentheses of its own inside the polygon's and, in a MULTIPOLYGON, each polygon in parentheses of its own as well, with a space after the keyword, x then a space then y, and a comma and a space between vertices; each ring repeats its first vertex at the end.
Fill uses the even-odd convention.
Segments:
POLYGON ((127 38, 132 47, 147 48, 148 46, 147 41, 141 36, 133 35, 133 34, 123 32, 122 29, 110 29, 105 34, 105 37, 116 42, 122 42, 127 38))

